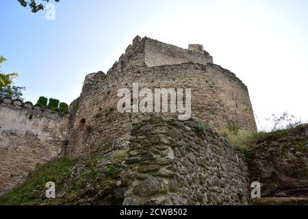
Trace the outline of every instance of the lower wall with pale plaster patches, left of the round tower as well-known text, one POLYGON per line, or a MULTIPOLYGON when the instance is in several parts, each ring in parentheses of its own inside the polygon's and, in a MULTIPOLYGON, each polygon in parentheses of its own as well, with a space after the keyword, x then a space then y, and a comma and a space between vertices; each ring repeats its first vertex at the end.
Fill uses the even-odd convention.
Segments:
POLYGON ((0 194, 25 181, 36 164, 60 155, 68 117, 38 105, 0 100, 0 194))

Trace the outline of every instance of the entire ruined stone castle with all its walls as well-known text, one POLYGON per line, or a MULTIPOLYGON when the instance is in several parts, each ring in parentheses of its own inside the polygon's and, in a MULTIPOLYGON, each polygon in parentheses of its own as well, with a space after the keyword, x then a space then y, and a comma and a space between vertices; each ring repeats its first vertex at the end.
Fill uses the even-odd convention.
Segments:
POLYGON ((244 159, 216 132, 230 125, 257 131, 248 89, 229 70, 213 64, 203 46, 181 49, 137 36, 106 74, 86 76, 69 111, 64 115, 18 100, 0 101, 0 194, 23 182, 36 164, 54 157, 126 150, 135 178, 123 204, 247 203, 236 198, 239 188, 248 194, 244 159), (170 112, 162 118, 118 112, 118 89, 132 88, 135 82, 151 90, 191 88, 192 120, 177 121, 177 114, 170 112), (197 123, 213 131, 196 136, 192 130, 197 123), (148 185, 165 190, 149 192, 148 185))

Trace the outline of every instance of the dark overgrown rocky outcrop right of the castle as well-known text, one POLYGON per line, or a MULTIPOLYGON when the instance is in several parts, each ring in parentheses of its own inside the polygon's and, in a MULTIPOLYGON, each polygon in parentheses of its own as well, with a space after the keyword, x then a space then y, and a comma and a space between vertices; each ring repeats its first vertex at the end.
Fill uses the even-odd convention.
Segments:
POLYGON ((308 125, 260 136, 247 161, 251 181, 262 185, 261 197, 307 198, 308 125))

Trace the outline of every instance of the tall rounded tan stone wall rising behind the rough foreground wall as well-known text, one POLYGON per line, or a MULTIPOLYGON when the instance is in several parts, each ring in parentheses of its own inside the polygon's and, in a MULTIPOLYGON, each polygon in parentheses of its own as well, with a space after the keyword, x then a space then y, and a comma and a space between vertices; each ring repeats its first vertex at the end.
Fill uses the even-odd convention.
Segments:
POLYGON ((153 47, 168 45, 137 37, 107 75, 99 72, 86 77, 71 120, 68 155, 79 156, 97 150, 107 153, 127 146, 131 124, 142 120, 142 114, 120 114, 116 108, 120 99, 117 92, 120 88, 132 90, 133 83, 139 83, 140 89, 151 90, 191 88, 193 118, 220 132, 227 130, 230 122, 245 131, 257 130, 248 90, 233 73, 216 64, 198 64, 197 58, 195 63, 149 67, 144 54, 149 54, 146 47, 150 42, 153 47))

